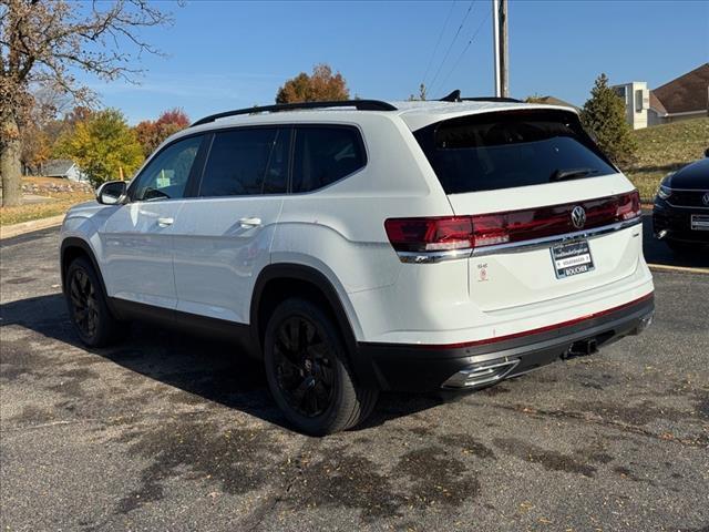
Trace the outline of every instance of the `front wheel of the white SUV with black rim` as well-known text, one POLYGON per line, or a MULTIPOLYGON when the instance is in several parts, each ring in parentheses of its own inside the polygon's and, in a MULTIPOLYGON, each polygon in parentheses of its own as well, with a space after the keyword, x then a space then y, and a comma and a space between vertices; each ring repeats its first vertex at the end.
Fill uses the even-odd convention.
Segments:
POLYGON ((125 335, 127 324, 111 314, 99 275, 86 258, 69 265, 65 297, 71 323, 88 347, 104 347, 125 335))

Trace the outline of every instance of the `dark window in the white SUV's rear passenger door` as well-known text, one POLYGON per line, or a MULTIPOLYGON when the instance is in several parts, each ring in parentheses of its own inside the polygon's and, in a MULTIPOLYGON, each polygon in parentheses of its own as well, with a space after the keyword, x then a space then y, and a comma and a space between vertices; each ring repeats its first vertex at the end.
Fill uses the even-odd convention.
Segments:
POLYGON ((215 133, 199 195, 285 194, 289 147, 289 129, 254 127, 215 133))

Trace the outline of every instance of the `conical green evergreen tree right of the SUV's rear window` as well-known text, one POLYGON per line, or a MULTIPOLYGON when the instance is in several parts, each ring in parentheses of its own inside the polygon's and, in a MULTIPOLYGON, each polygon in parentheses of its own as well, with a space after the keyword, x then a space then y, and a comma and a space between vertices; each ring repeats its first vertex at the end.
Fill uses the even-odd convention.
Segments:
POLYGON ((617 164, 633 162, 637 143, 630 125, 625 121, 625 103, 608 86, 606 74, 596 78, 590 99, 580 112, 580 120, 610 160, 617 164))

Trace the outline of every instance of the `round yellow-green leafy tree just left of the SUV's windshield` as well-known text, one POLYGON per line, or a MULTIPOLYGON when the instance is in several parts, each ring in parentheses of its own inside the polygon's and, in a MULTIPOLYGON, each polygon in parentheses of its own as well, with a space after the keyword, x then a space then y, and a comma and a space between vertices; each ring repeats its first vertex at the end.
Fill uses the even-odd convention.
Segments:
POLYGON ((94 186, 131 176, 144 158, 135 132, 115 109, 93 113, 58 144, 58 153, 76 162, 94 186))

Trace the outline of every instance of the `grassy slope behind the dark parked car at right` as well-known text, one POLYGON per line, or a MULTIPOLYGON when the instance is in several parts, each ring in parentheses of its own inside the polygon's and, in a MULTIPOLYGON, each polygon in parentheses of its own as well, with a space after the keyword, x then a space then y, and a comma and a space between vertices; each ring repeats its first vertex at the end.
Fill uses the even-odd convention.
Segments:
POLYGON ((709 117, 686 120, 634 131, 637 162, 623 171, 640 197, 651 202, 662 177, 705 156, 709 147, 709 117))

